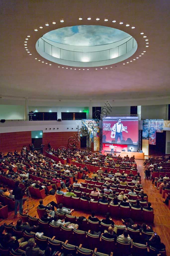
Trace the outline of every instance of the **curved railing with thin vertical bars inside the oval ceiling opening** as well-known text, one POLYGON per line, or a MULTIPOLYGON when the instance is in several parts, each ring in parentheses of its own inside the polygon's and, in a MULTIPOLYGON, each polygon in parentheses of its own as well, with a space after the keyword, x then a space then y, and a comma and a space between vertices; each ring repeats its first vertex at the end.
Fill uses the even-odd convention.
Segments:
POLYGON ((76 61, 76 62, 96 62, 96 61, 105 61, 120 57, 125 55, 127 52, 131 51, 136 47, 137 42, 134 37, 131 37, 129 40, 123 44, 102 51, 90 51, 90 52, 80 52, 80 51, 71 51, 65 50, 46 42, 42 37, 36 42, 36 47, 45 52, 46 54, 67 61, 76 61))

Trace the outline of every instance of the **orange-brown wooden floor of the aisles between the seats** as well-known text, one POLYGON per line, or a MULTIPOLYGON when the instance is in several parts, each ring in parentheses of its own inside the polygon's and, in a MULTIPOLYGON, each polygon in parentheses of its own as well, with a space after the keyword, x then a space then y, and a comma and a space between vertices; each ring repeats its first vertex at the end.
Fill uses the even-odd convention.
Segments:
MULTIPOLYGON (((163 204, 162 195, 159 194, 159 190, 157 190, 154 187, 151 180, 144 180, 145 168, 143 167, 142 162, 143 162, 143 160, 136 160, 137 168, 141 175, 141 183, 143 184, 144 191, 148 194, 148 200, 151 202, 152 207, 154 209, 155 217, 154 217, 153 230, 161 237, 162 242, 166 245, 167 255, 170 256, 170 210, 168 209, 168 207, 165 204, 163 204)), ((83 180, 79 180, 79 181, 83 182, 83 180)), ((43 200, 44 205, 48 204, 48 202, 50 202, 52 200, 54 200, 56 202, 55 196, 50 195, 50 196, 45 197, 45 199, 43 200)), ((34 204, 34 208, 32 208, 29 211, 29 215, 36 216, 38 218, 36 207, 39 204, 39 200, 32 198, 32 202, 34 204)), ((32 202, 30 199, 29 207, 32 206, 32 202)), ((27 206, 27 204, 24 205, 24 210, 26 209, 26 206, 27 206)), ((90 212, 84 213, 82 211, 74 210, 72 215, 74 215, 74 216, 82 216, 83 215, 86 218, 88 218, 88 216, 90 215, 90 212)), ((102 219, 104 216, 96 215, 96 217, 98 217, 99 219, 102 219)), ((0 225, 2 225, 4 222, 6 222, 7 224, 13 222, 13 224, 16 225, 18 218, 19 218, 19 214, 18 214, 17 218, 14 218, 14 211, 9 211, 8 219, 1 220, 0 225)), ((119 225, 119 224, 122 225, 121 218, 120 219, 113 218, 113 221, 117 225, 119 225)), ((135 222, 135 223, 137 223, 137 222, 135 222)), ((140 222, 138 222, 138 223, 141 224, 140 222)))

